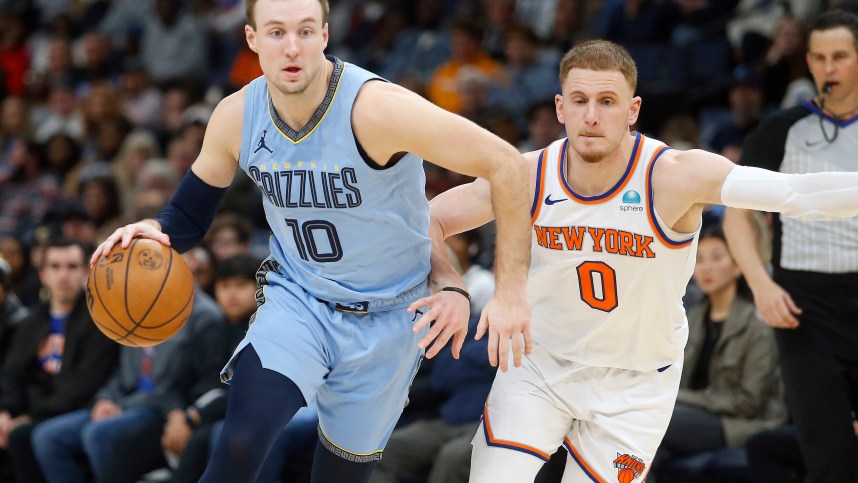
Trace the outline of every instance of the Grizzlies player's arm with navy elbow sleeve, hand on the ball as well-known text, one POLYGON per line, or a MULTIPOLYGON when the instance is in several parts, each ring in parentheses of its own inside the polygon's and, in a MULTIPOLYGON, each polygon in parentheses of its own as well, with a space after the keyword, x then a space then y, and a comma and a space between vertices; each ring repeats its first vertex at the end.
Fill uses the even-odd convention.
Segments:
POLYGON ((90 266, 114 245, 128 247, 134 238, 151 238, 179 252, 199 243, 232 183, 241 146, 244 90, 221 101, 212 113, 200 155, 179 184, 170 203, 154 220, 118 228, 92 254, 90 266))

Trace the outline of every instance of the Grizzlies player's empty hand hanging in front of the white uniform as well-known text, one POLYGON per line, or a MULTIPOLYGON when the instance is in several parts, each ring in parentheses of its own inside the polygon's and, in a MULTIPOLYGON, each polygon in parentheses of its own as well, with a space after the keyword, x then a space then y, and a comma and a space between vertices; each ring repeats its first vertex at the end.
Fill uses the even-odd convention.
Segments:
POLYGON ((521 367, 521 354, 530 355, 533 340, 530 336, 530 304, 524 295, 508 295, 497 292, 492 296, 477 325, 475 339, 489 333, 489 364, 500 365, 506 372, 509 363, 509 345, 512 343, 513 365, 521 367), (522 351, 522 342, 524 350, 522 351))

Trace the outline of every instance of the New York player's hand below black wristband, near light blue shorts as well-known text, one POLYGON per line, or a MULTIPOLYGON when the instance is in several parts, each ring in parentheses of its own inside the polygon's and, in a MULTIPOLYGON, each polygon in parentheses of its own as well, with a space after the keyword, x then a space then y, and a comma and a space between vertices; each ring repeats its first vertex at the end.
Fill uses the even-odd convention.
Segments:
POLYGON ((428 324, 432 326, 417 346, 421 349, 429 347, 426 350, 426 357, 431 359, 441 352, 452 337, 453 345, 450 350, 453 352, 453 357, 458 359, 462 344, 465 343, 465 336, 468 335, 470 300, 458 292, 440 291, 415 301, 408 306, 408 311, 416 312, 420 307, 429 307, 429 310, 417 319, 413 327, 414 332, 420 332, 428 324))

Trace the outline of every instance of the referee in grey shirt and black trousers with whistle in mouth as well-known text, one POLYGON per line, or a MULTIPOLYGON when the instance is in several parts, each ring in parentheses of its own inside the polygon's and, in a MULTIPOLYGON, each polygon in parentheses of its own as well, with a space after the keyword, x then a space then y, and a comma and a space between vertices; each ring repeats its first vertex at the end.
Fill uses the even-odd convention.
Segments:
MULTIPOLYGON (((809 173, 858 171, 858 17, 830 11, 810 29, 807 63, 820 94, 763 121, 740 164, 809 173)), ((724 228, 766 323, 775 327, 787 401, 808 482, 858 482, 858 219, 773 223, 773 277, 755 249, 751 212, 724 228)))

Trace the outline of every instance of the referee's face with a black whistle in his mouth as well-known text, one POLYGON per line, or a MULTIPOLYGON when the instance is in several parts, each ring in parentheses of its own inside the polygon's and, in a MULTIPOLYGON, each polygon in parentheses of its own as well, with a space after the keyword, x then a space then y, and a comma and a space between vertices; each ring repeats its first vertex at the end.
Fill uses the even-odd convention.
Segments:
POLYGON ((830 82, 830 100, 842 101, 858 89, 858 52, 846 27, 818 30, 810 34, 807 66, 817 89, 830 82))

